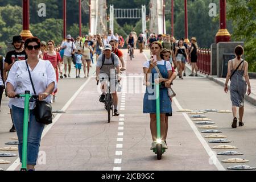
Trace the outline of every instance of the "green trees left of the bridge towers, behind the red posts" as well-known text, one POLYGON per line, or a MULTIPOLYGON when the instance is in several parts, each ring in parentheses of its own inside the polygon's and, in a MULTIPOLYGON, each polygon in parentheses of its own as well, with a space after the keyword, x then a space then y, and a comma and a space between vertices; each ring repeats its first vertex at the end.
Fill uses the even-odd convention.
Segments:
MULTIPOLYGON (((79 35, 79 3, 78 0, 67 1, 67 34, 74 38, 79 35)), ((63 40, 63 3, 59 0, 30 1, 30 31, 39 39, 52 39, 55 44, 63 40), (46 17, 39 17, 39 3, 46 4, 46 17)), ((88 32, 88 15, 82 14, 82 34, 88 32)), ((14 35, 22 31, 22 1, 0 0, 0 49, 1 55, 6 55, 13 49, 11 42, 14 35), (7 49, 8 48, 8 49, 7 49)))

